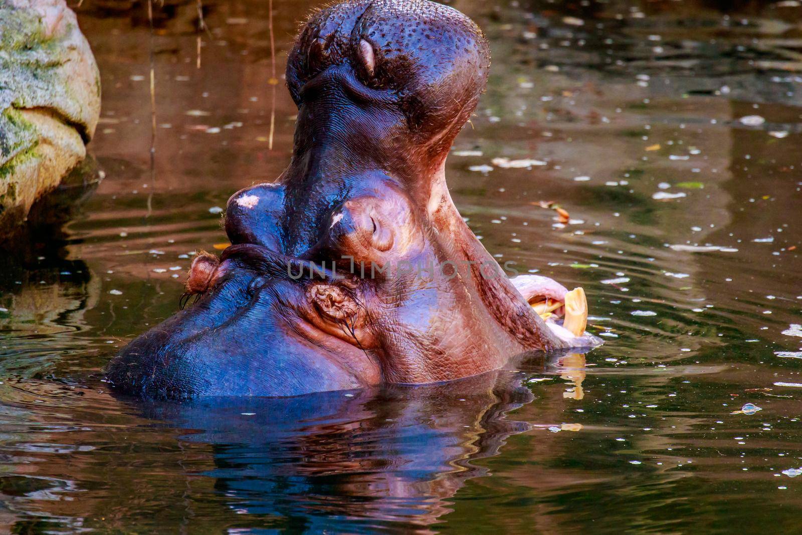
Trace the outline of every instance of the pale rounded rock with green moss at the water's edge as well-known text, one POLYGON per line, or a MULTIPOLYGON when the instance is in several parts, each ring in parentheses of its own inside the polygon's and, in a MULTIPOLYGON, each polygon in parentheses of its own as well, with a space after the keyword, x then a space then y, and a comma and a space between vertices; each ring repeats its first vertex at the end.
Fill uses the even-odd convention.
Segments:
POLYGON ((0 241, 86 156, 99 79, 63 0, 0 0, 0 241))

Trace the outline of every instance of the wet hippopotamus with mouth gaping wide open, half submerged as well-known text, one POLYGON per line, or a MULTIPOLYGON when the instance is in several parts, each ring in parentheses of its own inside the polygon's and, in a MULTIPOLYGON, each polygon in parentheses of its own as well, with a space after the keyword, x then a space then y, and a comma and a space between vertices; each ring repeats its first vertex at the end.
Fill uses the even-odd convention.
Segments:
POLYGON ((489 65, 479 27, 449 6, 350 0, 312 14, 286 67, 289 167, 229 199, 231 245, 192 261, 192 306, 115 355, 115 389, 180 399, 436 383, 597 345, 533 310, 565 288, 508 278, 448 193, 446 156, 489 65))

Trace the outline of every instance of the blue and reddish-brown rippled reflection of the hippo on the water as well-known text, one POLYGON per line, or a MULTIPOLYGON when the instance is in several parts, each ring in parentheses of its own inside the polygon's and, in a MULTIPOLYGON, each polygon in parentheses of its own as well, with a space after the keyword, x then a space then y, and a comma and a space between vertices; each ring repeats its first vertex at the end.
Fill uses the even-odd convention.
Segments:
MULTIPOLYGON (((418 533, 415 525, 430 533, 423 526, 452 509, 465 481, 488 473, 476 461, 535 427, 507 416, 534 399, 520 384, 526 376, 495 371, 348 395, 145 403, 144 415, 191 429, 184 440, 213 446, 213 467, 202 473, 216 478, 217 503, 248 515, 238 520, 244 529, 375 533, 399 531, 403 522, 404 533, 418 533)), ((565 409, 553 396, 559 391, 544 393, 553 403, 529 412, 541 427, 560 422, 565 409)), ((546 435, 553 445, 556 436, 546 435)))

